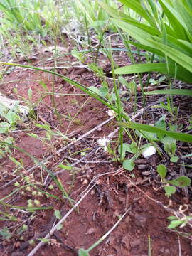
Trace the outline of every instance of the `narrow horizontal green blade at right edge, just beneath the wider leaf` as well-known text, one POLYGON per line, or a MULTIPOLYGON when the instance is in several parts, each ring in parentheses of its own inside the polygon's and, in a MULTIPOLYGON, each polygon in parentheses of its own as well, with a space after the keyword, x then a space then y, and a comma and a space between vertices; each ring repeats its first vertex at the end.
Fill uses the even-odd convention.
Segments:
POLYGON ((188 89, 170 89, 170 90, 154 90, 145 92, 145 95, 184 95, 192 97, 192 90, 188 89))

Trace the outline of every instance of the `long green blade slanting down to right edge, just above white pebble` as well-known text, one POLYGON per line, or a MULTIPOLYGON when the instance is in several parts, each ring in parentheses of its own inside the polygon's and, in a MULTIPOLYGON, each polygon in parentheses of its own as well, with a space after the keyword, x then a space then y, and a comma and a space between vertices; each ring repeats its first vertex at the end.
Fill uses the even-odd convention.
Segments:
POLYGON ((147 124, 137 124, 134 122, 119 122, 120 125, 123 127, 131 128, 131 129, 138 129, 146 132, 153 132, 156 134, 163 134, 173 137, 181 142, 192 142, 192 135, 190 134, 183 134, 181 132, 169 132, 163 129, 159 129, 157 127, 152 127, 151 125, 147 124))

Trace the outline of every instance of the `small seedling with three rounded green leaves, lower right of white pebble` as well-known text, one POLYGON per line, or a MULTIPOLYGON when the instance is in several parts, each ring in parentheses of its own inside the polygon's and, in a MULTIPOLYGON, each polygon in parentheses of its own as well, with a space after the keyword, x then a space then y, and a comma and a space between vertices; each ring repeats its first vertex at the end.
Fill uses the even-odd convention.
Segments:
POLYGON ((166 196, 168 197, 176 192, 177 186, 183 188, 186 186, 190 186, 191 184, 191 179, 186 176, 180 176, 178 178, 175 178, 174 180, 168 181, 166 179, 167 170, 164 164, 160 164, 159 166, 157 166, 157 171, 159 173, 159 176, 161 177, 161 182, 164 184, 166 196))

